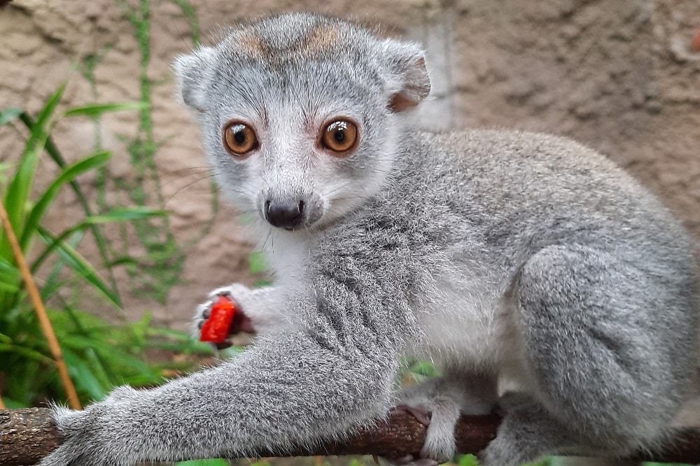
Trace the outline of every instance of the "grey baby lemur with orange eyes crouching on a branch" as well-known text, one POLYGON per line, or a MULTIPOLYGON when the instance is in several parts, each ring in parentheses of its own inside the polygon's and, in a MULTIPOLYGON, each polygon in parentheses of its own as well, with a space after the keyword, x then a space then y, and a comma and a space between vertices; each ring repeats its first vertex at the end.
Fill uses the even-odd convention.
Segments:
POLYGON ((485 466, 664 439, 697 362, 699 276, 679 223, 615 164, 543 134, 420 132, 424 52, 345 20, 241 24, 174 67, 275 277, 211 298, 259 334, 217 367, 57 408, 67 441, 43 465, 282 451, 396 405, 428 423, 416 461, 448 460, 459 414, 496 403, 485 466), (402 355, 442 375, 395 395, 402 355))

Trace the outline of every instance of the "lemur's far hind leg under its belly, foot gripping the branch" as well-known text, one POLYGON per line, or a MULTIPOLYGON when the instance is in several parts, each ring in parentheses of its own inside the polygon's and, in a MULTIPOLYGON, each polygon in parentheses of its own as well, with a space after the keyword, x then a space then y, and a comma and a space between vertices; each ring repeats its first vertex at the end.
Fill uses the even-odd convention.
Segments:
POLYGON ((398 409, 411 412, 428 427, 421 458, 444 463, 456 453, 454 426, 459 416, 488 414, 497 398, 495 376, 446 374, 403 390, 398 409))

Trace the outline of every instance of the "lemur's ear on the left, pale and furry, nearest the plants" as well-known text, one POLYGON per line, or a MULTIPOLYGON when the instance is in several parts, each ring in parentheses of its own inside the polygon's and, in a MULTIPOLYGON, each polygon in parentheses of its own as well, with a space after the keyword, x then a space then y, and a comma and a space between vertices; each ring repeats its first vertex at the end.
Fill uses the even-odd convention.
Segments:
POLYGON ((176 57, 172 64, 183 101, 200 113, 207 107, 204 90, 211 75, 213 56, 214 48, 201 47, 189 55, 176 57))

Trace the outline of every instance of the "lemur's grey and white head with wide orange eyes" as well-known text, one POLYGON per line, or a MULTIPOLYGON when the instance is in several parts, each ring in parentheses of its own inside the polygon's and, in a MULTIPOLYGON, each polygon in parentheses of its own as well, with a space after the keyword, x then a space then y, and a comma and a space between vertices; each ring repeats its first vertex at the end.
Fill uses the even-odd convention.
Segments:
POLYGON ((417 45, 308 13, 241 25, 174 68, 218 182, 286 230, 327 225, 376 194, 398 113, 430 91, 417 45))

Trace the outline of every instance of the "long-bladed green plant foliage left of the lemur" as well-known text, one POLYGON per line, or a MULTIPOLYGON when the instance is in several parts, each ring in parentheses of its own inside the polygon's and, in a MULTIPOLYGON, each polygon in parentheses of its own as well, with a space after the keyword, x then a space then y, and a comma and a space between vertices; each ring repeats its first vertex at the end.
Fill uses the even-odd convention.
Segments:
MULTIPOLYGON (((106 281, 113 267, 129 262, 109 260, 107 243, 99 226, 106 223, 132 223, 165 216, 143 206, 121 207, 94 213, 87 196, 76 182, 78 176, 104 167, 110 153, 105 150, 67 163, 50 138, 52 128, 62 118, 97 118, 105 112, 140 109, 143 104, 99 104, 59 112, 57 106, 65 85, 59 86, 36 118, 18 108, 0 111, 0 130, 10 125, 27 129, 25 146, 15 162, 0 164, 0 198, 18 237, 23 255, 29 257, 32 274, 41 271, 41 297, 48 302, 48 315, 62 353, 83 402, 99 400, 113 386, 129 383, 150 386, 172 374, 177 365, 149 365, 144 351, 202 352, 207 346, 197 344, 185 334, 153 329, 148 316, 137 323, 113 325, 106 319, 79 311, 69 304, 66 292, 96 295, 106 309, 121 310, 116 283, 106 281), (47 156, 48 155, 48 159, 47 156), (36 169, 44 157, 55 164, 57 174, 45 188, 34 185, 36 169), (43 225, 45 214, 55 206, 59 192, 70 189, 76 195, 83 215, 61 232, 51 232, 43 225), (92 234, 102 258, 95 267, 79 252, 85 234, 92 234)), ((18 128, 18 129, 20 129, 18 128)), ((0 390, 10 408, 27 407, 43 400, 62 400, 63 389, 54 370, 54 362, 34 310, 27 300, 20 271, 15 265, 8 239, 0 232, 0 390)))

